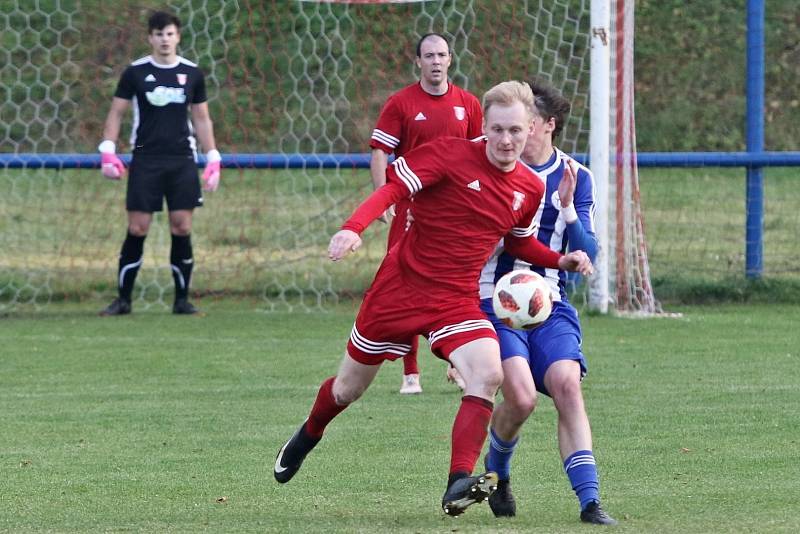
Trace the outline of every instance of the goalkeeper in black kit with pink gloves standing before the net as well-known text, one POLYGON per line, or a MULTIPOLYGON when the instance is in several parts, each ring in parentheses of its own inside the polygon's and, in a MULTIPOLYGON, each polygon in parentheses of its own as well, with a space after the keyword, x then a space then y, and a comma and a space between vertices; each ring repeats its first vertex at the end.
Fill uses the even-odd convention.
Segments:
POLYGON ((153 213, 163 209, 164 199, 172 234, 170 264, 175 281, 172 312, 191 315, 198 311, 188 300, 194 267, 192 214, 203 205, 196 163, 197 141, 206 151, 204 190, 217 189, 222 158, 214 141, 203 73, 197 65, 177 55, 180 29, 180 20, 170 13, 158 11, 150 16, 148 42, 152 52, 131 63, 122 73, 106 118, 103 142, 98 147, 102 171, 106 178, 118 180, 126 169, 116 155, 116 141, 122 117, 133 103, 133 157, 125 200, 128 233, 119 256, 119 295, 101 315, 131 312, 131 295, 142 265, 144 241, 153 213))

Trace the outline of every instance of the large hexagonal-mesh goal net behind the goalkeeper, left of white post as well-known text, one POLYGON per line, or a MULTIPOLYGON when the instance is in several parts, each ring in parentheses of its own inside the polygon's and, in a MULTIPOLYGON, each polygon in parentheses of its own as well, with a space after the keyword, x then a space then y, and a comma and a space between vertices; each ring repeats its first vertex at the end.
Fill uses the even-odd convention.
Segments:
MULTIPOLYGON (((9 59, 0 66, 0 310, 110 298, 124 184, 91 167, 122 69, 149 52, 147 11, 127 0, 8 4, 0 17, 9 59)), ((206 73, 227 166, 195 215, 200 298, 246 295, 267 309, 309 310, 363 291, 385 251, 383 225, 345 262, 328 261, 326 246, 371 191, 368 160, 356 156, 368 152, 386 97, 417 79, 414 47, 425 33, 450 39, 452 81, 477 95, 505 79, 549 81, 572 104, 559 146, 579 159, 588 153, 589 0, 167 7, 183 22, 179 53, 206 73)), ((121 154, 129 130, 128 122, 121 154)), ((157 214, 138 309, 169 303, 169 243, 157 214)))

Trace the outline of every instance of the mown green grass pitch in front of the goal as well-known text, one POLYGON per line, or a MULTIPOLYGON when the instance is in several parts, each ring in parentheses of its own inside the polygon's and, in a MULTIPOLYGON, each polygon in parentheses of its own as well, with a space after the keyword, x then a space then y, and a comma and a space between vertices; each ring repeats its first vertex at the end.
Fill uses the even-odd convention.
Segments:
MULTIPOLYGON (((424 393, 387 364, 298 476, 274 455, 333 374, 355 305, 322 314, 204 299, 204 317, 0 317, 0 531, 589 532, 543 399, 514 465, 519 515, 439 509, 459 395, 423 351, 424 393)), ((620 532, 795 532, 796 307, 584 317, 584 391, 620 532)), ((598 530, 599 531, 599 530, 598 530)))

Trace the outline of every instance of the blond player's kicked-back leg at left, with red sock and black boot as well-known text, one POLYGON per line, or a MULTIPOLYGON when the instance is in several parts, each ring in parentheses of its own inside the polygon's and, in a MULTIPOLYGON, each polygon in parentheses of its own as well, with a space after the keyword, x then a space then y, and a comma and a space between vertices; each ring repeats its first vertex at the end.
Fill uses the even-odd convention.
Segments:
POLYGON ((278 451, 275 480, 283 484, 294 477, 306 455, 322 439, 328 423, 361 397, 379 369, 380 364, 365 365, 345 354, 336 376, 328 378, 320 386, 308 418, 278 451))

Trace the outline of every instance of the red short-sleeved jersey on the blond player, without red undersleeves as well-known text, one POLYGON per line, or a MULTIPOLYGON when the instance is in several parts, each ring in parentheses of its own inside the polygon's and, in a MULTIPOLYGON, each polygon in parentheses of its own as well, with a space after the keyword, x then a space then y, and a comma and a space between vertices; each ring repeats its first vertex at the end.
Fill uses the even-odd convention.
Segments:
POLYGON ((478 277, 500 238, 534 234, 542 181, 517 163, 504 172, 486 143, 440 138, 395 160, 389 185, 414 195, 414 222, 392 252, 408 281, 431 292, 478 292, 478 277))

